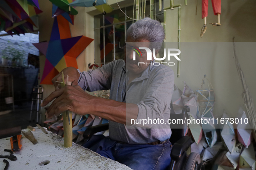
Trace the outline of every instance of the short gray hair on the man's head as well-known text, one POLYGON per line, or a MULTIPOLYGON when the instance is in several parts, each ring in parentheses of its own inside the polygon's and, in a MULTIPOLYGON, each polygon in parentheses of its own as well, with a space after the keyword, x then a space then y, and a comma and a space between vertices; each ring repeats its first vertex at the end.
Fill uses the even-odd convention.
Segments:
POLYGON ((154 48, 159 50, 165 38, 165 31, 160 22, 154 19, 144 18, 136 21, 127 29, 126 40, 127 37, 133 40, 146 39, 149 42, 159 42, 153 43, 154 48))

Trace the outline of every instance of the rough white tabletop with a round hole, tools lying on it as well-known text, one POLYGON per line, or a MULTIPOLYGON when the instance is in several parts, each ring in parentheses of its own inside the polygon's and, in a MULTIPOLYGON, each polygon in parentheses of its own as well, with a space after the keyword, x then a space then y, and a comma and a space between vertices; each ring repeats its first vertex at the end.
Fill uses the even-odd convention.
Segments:
MULTIPOLYGON (((10 163, 8 170, 131 170, 74 142, 71 148, 64 148, 64 138, 48 130, 48 134, 45 134, 38 127, 35 128, 36 131, 32 133, 38 143, 33 145, 29 139, 22 137, 21 150, 13 154, 17 160, 6 159, 10 163), (39 163, 43 161, 50 163, 40 166, 39 163)), ((23 132, 27 131, 23 129, 23 132)), ((4 149, 11 149, 10 137, 0 139, 0 155, 9 155, 4 149)), ((0 158, 0 170, 5 165, 3 158, 0 158)))

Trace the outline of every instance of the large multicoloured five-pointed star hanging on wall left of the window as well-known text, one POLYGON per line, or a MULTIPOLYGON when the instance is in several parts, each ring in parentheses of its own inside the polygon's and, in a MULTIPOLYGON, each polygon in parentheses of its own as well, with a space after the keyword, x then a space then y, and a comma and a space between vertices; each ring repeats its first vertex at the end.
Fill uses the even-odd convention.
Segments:
POLYGON ((68 20, 55 17, 50 41, 33 44, 46 57, 40 84, 52 85, 52 79, 66 67, 78 69, 76 58, 93 40, 83 35, 71 38, 68 20))

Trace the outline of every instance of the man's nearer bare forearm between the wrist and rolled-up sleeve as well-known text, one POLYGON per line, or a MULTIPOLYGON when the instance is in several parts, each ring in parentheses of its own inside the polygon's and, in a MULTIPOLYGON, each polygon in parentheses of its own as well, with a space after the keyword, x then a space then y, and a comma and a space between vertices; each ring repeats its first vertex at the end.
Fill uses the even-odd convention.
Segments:
POLYGON ((117 123, 130 125, 131 119, 137 119, 139 108, 137 104, 123 103, 110 99, 95 97, 91 99, 90 114, 117 123))

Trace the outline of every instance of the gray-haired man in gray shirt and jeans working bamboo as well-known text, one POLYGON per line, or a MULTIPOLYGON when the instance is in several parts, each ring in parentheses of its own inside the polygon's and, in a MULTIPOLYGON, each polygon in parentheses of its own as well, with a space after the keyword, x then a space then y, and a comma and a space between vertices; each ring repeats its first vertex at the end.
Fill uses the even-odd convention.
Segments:
POLYGON ((147 60, 146 50, 141 49, 135 58, 132 50, 148 47, 155 48, 157 53, 164 36, 158 21, 145 18, 127 30, 125 60, 114 60, 88 72, 72 67, 63 69, 73 86, 59 89, 54 81, 62 81, 61 75, 53 79, 56 91, 42 103, 45 106, 55 99, 46 116, 50 118, 70 110, 80 115, 103 117, 110 120, 109 138, 94 135, 84 147, 134 170, 168 168, 172 149, 169 124, 167 121, 164 124, 138 122, 169 119, 174 73, 168 66, 154 65, 153 55, 147 60), (110 99, 94 97, 84 91, 107 89, 110 89, 110 99))

